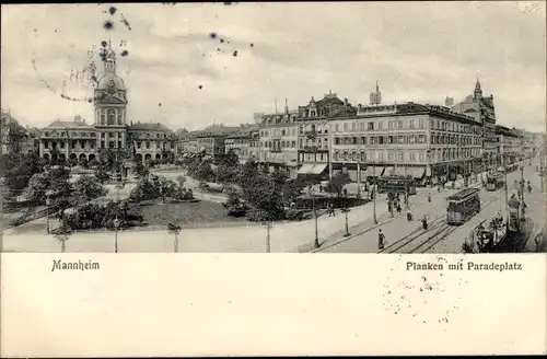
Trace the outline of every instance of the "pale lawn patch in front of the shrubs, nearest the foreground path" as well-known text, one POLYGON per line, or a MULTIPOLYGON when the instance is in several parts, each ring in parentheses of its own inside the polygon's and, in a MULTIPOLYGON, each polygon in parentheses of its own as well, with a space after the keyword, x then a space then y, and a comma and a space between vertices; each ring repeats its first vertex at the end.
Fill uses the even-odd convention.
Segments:
POLYGON ((140 210, 144 217, 144 221, 149 225, 246 222, 245 218, 229 217, 221 204, 206 200, 199 202, 142 206, 140 210))

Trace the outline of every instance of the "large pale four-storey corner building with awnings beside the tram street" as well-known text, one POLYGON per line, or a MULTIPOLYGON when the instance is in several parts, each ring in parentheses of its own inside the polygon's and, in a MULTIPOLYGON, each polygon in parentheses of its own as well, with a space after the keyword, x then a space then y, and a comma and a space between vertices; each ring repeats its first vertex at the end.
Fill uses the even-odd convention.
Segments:
POLYGON ((333 171, 353 181, 395 174, 437 183, 472 173, 481 153, 479 124, 441 106, 359 105, 330 128, 333 171))

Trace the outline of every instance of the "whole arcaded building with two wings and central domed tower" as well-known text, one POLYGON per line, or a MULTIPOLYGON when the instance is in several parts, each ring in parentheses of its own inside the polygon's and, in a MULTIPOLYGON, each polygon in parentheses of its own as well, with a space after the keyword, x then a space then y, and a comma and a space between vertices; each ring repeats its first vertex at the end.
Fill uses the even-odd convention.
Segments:
POLYGON ((160 123, 127 123, 127 89, 116 74, 116 54, 106 50, 104 76, 94 90, 94 121, 55 120, 42 130, 39 155, 70 163, 97 160, 107 150, 138 162, 173 160, 176 136, 160 123))

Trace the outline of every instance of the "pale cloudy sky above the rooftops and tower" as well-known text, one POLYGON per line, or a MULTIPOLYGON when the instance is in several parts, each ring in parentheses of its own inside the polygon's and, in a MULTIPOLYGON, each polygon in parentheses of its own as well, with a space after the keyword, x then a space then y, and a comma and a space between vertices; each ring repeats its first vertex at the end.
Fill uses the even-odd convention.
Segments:
POLYGON ((543 1, 12 4, 1 16, 1 104, 23 125, 93 123, 86 69, 103 68, 109 40, 128 118, 173 130, 252 123, 329 90, 364 105, 376 80, 383 103, 442 105, 477 78, 498 124, 546 129, 543 1))

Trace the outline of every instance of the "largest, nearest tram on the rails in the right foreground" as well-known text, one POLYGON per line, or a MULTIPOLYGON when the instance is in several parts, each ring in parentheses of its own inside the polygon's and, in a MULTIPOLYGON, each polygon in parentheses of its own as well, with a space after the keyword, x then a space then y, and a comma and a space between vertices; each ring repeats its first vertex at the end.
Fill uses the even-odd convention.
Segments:
POLYGON ((465 188, 447 198, 446 223, 458 225, 480 212, 480 189, 465 188))

